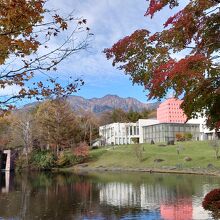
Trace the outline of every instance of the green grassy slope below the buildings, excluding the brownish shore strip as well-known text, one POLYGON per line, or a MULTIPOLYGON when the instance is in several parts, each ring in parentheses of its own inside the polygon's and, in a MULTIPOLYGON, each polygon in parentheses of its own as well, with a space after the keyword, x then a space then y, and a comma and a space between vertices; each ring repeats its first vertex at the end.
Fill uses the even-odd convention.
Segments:
POLYGON ((220 159, 215 158, 215 152, 208 142, 181 142, 174 146, 159 147, 157 144, 143 144, 143 160, 140 162, 135 156, 134 145, 106 147, 91 151, 90 167, 121 167, 121 168, 161 168, 177 166, 179 168, 207 168, 213 164, 220 168, 220 159), (177 154, 177 145, 183 150, 177 154), (192 158, 186 162, 185 157, 192 158), (156 163, 155 159, 163 159, 156 163))

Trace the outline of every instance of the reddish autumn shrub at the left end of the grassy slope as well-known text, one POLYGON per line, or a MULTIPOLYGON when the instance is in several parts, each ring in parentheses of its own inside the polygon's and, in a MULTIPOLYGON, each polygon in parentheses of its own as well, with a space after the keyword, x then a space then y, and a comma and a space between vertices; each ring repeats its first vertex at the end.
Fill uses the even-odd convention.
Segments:
POLYGON ((85 142, 81 142, 73 151, 78 163, 83 163, 89 156, 89 146, 85 142))

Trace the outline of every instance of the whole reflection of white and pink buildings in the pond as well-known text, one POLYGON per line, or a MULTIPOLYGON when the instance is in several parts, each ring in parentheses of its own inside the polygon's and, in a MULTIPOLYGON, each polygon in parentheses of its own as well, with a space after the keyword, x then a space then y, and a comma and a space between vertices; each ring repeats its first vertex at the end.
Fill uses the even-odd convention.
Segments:
MULTIPOLYGON (((205 190, 203 195, 206 194, 205 190)), ((114 207, 139 207, 141 210, 160 211, 163 220, 208 219, 209 215, 193 201, 192 195, 178 195, 177 190, 163 185, 108 183, 100 187, 100 203, 114 207)), ((194 198, 195 200, 195 198, 194 198)))

